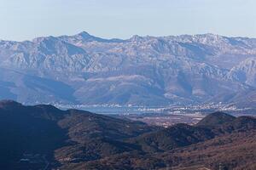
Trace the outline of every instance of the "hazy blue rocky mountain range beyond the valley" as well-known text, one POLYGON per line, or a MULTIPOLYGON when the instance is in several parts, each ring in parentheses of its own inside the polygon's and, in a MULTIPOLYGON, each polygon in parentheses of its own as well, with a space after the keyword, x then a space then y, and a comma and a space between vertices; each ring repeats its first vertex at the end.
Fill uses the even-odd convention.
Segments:
POLYGON ((84 105, 252 106, 256 39, 213 34, 0 41, 0 99, 84 105))

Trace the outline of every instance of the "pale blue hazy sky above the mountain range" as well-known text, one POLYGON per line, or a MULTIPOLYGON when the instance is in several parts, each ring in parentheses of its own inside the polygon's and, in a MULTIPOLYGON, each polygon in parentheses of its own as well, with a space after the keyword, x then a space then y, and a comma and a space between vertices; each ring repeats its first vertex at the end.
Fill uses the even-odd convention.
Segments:
POLYGON ((256 0, 0 0, 0 39, 215 33, 256 37, 256 0))

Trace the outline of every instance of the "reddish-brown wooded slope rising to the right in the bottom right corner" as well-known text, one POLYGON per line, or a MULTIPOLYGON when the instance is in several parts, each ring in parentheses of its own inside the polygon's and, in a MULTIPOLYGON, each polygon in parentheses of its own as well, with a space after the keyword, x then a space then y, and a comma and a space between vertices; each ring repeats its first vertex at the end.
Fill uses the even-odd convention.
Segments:
POLYGON ((142 155, 124 153, 109 156, 97 161, 73 164, 64 167, 80 169, 113 169, 113 170, 148 170, 148 169, 195 169, 206 167, 223 169, 254 170, 256 167, 256 131, 231 133, 187 147, 142 155))

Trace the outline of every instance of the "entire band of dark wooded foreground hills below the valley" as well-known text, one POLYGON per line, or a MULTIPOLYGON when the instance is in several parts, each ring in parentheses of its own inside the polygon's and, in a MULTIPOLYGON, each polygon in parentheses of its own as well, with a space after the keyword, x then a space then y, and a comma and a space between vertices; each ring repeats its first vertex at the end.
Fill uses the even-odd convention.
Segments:
POLYGON ((4 169, 252 169, 256 119, 212 113, 197 125, 148 127, 52 105, 0 102, 4 169))

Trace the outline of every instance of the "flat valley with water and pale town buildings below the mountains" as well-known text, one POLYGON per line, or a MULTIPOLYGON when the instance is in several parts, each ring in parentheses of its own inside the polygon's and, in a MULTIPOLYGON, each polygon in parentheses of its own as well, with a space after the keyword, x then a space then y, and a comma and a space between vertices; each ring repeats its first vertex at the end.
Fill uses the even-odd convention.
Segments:
POLYGON ((237 108, 236 105, 207 104, 187 106, 148 107, 132 105, 55 105, 61 109, 74 108, 102 115, 145 122, 151 126, 169 127, 176 123, 196 124, 208 114, 224 111, 233 116, 253 116, 253 107, 237 108))

